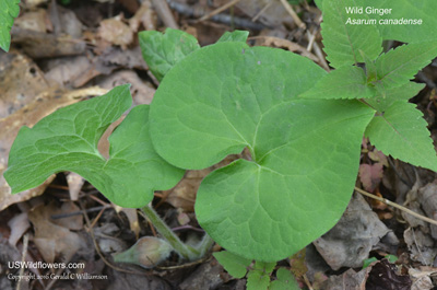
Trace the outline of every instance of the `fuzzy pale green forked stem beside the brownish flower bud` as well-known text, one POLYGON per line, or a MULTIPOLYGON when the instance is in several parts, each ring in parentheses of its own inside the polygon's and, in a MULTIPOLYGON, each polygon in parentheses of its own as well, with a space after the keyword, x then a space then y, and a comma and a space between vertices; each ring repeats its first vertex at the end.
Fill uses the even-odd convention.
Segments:
POLYGON ((170 228, 161 219, 157 212, 150 206, 141 208, 141 211, 150 219, 153 225, 156 228, 160 234, 173 246, 173 248, 185 259, 194 260, 203 256, 206 251, 213 244, 213 240, 205 234, 197 247, 185 244, 172 231, 170 228))

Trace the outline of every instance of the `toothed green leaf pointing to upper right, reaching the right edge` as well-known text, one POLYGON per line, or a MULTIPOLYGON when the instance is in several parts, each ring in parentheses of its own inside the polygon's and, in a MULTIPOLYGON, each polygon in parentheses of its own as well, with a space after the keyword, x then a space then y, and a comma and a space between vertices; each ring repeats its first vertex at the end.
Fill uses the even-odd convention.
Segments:
POLYGON ((376 60, 377 83, 386 90, 405 84, 437 56, 437 42, 414 43, 391 49, 376 60))

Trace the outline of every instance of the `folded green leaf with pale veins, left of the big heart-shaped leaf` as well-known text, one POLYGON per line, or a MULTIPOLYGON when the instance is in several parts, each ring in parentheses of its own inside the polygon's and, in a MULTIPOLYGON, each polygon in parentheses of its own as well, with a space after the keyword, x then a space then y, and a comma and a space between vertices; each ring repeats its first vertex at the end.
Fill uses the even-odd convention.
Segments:
POLYGON ((23 127, 10 152, 4 173, 12 193, 42 184, 48 176, 72 171, 90 181, 121 207, 141 207, 153 190, 174 186, 182 176, 153 150, 149 136, 149 106, 133 108, 109 137, 110 158, 97 150, 103 132, 131 105, 129 85, 61 108, 23 127))

